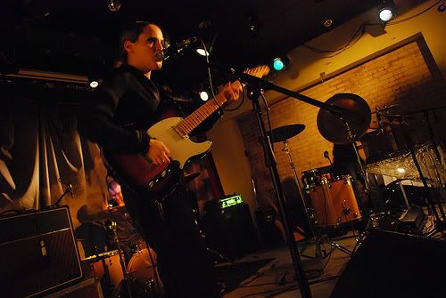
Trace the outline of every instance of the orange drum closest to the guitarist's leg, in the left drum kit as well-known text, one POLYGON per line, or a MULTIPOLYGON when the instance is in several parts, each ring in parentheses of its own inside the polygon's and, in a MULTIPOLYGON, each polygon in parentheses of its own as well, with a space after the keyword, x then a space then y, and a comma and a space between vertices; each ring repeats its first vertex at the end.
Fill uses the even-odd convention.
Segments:
POLYGON ((161 278, 156 266, 156 254, 152 248, 143 248, 136 251, 130 259, 130 262, 128 262, 127 271, 128 276, 135 278, 148 288, 162 287, 161 278))

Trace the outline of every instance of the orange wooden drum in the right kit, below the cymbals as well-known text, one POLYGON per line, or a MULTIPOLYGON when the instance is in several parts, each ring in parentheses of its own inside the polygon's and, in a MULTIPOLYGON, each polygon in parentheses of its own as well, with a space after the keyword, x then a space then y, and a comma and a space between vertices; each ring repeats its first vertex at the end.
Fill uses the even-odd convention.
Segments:
POLYGON ((358 202, 351 185, 351 176, 339 176, 310 188, 311 204, 318 225, 336 227, 345 222, 359 220, 358 202))

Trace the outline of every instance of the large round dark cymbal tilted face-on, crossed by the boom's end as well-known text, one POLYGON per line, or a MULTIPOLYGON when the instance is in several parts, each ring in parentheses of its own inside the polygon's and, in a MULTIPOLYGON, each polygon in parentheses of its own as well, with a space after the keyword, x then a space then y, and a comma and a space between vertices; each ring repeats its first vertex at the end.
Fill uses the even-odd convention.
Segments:
POLYGON ((343 120, 326 109, 319 109, 317 120, 318 131, 326 141, 331 141, 335 144, 347 144, 351 141, 358 140, 361 135, 366 133, 372 119, 372 113, 367 101, 362 97, 353 93, 338 93, 329 98, 326 103, 348 109, 359 116, 359 121, 343 120), (349 140, 344 121, 351 129, 353 140, 349 140))

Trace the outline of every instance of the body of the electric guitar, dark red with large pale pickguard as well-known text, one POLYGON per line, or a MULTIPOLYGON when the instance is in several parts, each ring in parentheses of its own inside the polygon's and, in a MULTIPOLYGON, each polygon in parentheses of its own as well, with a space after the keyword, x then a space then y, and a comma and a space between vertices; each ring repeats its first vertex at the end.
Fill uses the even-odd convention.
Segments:
POLYGON ((169 164, 153 165, 142 154, 114 154, 107 158, 113 170, 136 189, 145 189, 159 195, 174 189, 187 161, 206 154, 212 146, 211 141, 195 143, 188 135, 178 133, 174 127, 182 120, 181 117, 169 117, 147 131, 152 138, 164 142, 170 149, 172 157, 169 164))

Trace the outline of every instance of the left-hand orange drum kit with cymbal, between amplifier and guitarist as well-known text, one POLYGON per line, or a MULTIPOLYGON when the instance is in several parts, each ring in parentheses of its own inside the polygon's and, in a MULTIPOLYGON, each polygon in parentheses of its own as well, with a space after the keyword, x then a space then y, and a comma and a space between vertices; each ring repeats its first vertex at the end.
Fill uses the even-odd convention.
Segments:
POLYGON ((132 256, 126 264, 120 249, 116 219, 127 213, 125 206, 111 207, 99 213, 87 214, 84 222, 111 222, 113 240, 118 249, 88 256, 82 260, 87 278, 100 280, 103 294, 108 297, 155 298, 161 296, 161 278, 156 254, 144 241, 132 247, 132 256))

